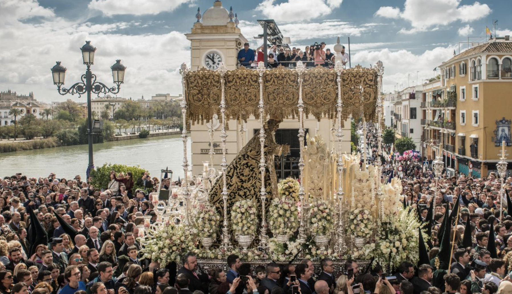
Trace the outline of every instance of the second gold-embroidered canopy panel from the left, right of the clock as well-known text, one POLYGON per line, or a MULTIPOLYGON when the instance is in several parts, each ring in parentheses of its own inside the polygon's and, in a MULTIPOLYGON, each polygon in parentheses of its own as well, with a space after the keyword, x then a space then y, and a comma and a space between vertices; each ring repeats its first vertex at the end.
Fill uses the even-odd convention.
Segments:
POLYGON ((258 104, 260 100, 260 75, 255 70, 240 67, 227 71, 224 75, 226 84, 226 119, 247 122, 249 115, 259 119, 258 104))

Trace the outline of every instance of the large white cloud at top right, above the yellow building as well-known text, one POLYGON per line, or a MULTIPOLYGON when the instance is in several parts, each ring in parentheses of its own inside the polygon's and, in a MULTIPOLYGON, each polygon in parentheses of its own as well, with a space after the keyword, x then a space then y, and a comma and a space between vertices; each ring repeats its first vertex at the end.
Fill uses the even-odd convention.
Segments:
POLYGON ((468 23, 490 14, 487 4, 475 2, 460 5, 461 0, 406 0, 403 11, 398 8, 380 7, 376 16, 402 18, 411 23, 412 28, 402 28, 399 33, 417 33, 456 21, 468 23))

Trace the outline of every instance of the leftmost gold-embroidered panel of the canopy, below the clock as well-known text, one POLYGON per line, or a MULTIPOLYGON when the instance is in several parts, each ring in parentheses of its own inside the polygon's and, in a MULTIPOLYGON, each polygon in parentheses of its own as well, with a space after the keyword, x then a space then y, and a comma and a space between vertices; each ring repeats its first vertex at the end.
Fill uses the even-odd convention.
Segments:
POLYGON ((217 113, 220 116, 221 75, 201 68, 190 71, 185 76, 185 97, 187 100, 187 120, 203 124, 217 113))

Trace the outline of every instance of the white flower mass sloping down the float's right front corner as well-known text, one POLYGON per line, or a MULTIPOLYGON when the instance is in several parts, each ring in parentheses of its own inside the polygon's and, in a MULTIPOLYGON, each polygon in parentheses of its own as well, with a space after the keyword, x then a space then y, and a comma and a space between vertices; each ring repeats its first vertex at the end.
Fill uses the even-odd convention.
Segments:
POLYGON ((373 265, 389 265, 392 268, 398 267, 403 261, 416 264, 419 260, 420 226, 416 211, 399 208, 390 222, 381 224, 375 243, 366 244, 359 250, 353 249, 346 258, 373 259, 373 265))

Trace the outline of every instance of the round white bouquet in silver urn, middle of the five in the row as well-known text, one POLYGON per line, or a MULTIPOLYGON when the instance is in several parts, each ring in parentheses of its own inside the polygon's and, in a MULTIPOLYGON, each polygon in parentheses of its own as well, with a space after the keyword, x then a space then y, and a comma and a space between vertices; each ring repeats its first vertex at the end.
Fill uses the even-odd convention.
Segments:
POLYGON ((295 201, 289 196, 272 199, 268 209, 268 226, 274 236, 290 237, 298 225, 298 210, 295 201))

